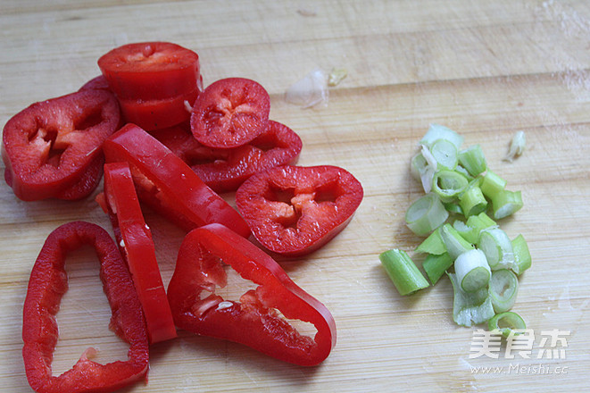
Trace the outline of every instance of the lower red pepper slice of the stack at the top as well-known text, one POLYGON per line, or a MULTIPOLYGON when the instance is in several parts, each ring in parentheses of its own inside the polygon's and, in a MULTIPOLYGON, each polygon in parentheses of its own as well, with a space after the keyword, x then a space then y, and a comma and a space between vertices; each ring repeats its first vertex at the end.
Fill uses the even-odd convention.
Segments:
POLYGON ((187 105, 193 105, 200 90, 170 98, 144 100, 119 99, 120 111, 126 122, 137 124, 144 130, 160 130, 190 119, 187 105))

